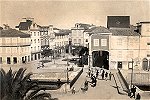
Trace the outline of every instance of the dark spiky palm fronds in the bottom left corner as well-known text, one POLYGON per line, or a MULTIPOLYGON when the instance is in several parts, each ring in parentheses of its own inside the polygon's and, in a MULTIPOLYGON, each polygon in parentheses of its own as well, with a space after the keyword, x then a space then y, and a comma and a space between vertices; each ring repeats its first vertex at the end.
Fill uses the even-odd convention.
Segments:
POLYGON ((39 93, 45 88, 39 88, 37 82, 32 82, 30 76, 25 75, 26 69, 20 68, 12 72, 11 68, 6 73, 0 70, 0 98, 1 100, 52 100, 49 93, 39 93))

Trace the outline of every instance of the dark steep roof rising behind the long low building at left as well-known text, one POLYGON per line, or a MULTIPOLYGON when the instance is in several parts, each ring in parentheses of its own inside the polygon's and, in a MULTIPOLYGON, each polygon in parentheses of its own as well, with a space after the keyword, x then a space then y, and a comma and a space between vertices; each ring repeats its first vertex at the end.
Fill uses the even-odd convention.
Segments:
POLYGON ((26 22, 20 22, 18 28, 19 30, 28 30, 32 24, 31 20, 27 20, 26 22))

